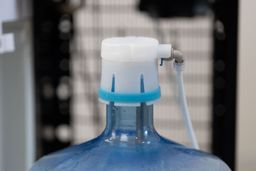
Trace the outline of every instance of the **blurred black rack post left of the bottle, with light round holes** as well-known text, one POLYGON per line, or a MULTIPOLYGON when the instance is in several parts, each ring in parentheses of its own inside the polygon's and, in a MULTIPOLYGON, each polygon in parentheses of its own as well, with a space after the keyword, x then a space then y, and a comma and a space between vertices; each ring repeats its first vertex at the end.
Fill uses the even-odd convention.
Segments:
POLYGON ((34 1, 37 156, 71 145, 70 41, 72 14, 64 2, 34 1), (63 132, 64 131, 64 137, 63 132))

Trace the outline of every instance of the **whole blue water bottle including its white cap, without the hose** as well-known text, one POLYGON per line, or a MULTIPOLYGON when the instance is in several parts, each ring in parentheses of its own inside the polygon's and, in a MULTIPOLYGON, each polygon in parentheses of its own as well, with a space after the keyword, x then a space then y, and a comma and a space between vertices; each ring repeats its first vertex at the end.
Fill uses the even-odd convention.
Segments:
POLYGON ((106 103, 105 130, 91 141, 41 158, 31 171, 230 171, 219 158, 156 132, 157 59, 171 55, 167 47, 145 37, 103 40, 99 99, 106 103))

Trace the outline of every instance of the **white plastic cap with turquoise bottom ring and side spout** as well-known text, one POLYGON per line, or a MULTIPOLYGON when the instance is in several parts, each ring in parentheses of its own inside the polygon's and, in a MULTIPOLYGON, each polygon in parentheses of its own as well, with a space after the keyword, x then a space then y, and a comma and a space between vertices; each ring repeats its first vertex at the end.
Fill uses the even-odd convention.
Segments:
POLYGON ((154 103, 160 97, 158 58, 170 57, 170 53, 170 44, 159 45, 153 38, 114 37, 103 40, 100 100, 105 103, 112 101, 119 106, 154 103))

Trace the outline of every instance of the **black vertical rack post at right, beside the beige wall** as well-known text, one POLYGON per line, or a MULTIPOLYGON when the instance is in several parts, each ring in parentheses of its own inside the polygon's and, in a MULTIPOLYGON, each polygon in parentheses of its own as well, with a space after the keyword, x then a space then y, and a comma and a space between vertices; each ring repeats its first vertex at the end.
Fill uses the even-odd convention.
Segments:
POLYGON ((235 170, 238 0, 214 8, 212 151, 235 170))

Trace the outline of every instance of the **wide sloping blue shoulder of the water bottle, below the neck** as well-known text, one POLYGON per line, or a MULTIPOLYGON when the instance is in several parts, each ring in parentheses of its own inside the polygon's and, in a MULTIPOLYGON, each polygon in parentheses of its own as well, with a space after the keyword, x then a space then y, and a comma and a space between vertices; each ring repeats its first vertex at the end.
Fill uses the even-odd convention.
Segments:
POLYGON ((31 171, 229 171, 217 157, 162 139, 158 143, 112 144, 97 138, 39 160, 31 171), (41 169, 44 168, 44 169, 41 169))

